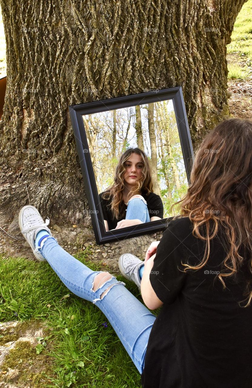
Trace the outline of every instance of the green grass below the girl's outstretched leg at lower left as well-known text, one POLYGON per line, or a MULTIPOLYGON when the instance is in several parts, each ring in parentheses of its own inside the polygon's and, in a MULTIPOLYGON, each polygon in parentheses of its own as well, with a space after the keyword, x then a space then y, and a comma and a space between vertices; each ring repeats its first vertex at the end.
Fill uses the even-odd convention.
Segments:
MULTIPOLYGON (((88 249, 78 259, 87 262, 88 249)), ((77 255, 76 255, 77 257, 77 255)), ((53 363, 43 386, 78 388, 140 387, 140 374, 105 315, 72 294, 47 262, 0 256, 0 320, 43 320, 53 363), (108 327, 102 326, 103 322, 108 327)), ((118 280, 123 280, 121 276, 118 280)), ((138 288, 127 288, 141 300, 138 288)), ((42 353, 47 353, 47 349, 42 353)))

